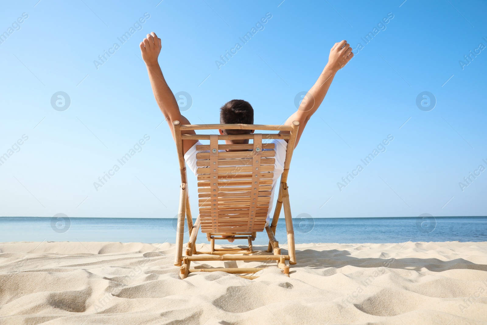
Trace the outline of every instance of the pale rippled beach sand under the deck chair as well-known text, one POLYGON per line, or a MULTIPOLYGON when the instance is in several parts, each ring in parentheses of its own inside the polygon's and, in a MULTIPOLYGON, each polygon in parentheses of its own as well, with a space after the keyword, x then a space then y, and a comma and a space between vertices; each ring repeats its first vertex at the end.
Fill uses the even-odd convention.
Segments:
POLYGON ((487 324, 487 242, 297 249, 291 278, 180 280, 169 243, 3 243, 0 324, 487 324))

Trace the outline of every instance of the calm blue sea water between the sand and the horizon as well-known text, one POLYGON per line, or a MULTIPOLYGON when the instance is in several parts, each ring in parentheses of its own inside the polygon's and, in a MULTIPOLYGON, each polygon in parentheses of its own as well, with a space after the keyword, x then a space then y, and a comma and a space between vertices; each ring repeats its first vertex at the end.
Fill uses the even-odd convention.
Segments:
MULTIPOLYGON (((487 241, 487 217, 297 218, 295 240, 302 243, 400 243, 487 241)), ((0 217, 0 242, 100 241, 174 243, 175 219, 0 217)), ((276 237, 286 242, 284 219, 276 237)), ((187 241, 187 232, 185 241, 187 241)), ((256 244, 266 244, 265 231, 256 244)), ((206 243, 206 236, 198 235, 206 243)), ((223 242, 222 242, 223 243, 223 242)), ((236 241, 243 244, 244 241, 236 241)))

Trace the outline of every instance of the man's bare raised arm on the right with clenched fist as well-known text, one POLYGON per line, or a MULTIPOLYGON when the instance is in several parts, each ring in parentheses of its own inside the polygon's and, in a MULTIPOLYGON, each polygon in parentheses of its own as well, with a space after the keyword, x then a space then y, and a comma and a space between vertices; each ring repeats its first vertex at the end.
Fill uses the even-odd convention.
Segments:
MULTIPOLYGON (((306 126, 306 123, 317 110, 319 105, 326 96, 328 88, 335 77, 338 70, 343 68, 345 64, 350 61, 354 56, 350 44, 346 40, 335 43, 330 50, 330 56, 328 57, 328 63, 321 72, 316 83, 308 91, 304 99, 301 101, 298 111, 289 116, 284 125, 291 125, 293 121, 300 122, 299 132, 296 138, 296 146, 300 140, 301 134, 306 126)), ((289 133, 289 131, 281 131, 280 133, 289 133)))

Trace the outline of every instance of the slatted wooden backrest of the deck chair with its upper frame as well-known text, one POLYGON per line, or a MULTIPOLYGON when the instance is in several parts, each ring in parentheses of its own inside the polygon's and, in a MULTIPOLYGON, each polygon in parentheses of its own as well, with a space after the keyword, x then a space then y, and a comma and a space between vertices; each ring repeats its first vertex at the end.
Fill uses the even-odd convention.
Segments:
MULTIPOLYGON (((176 123, 175 121, 174 123, 176 123)), ((173 124, 174 124, 173 123, 173 124)), ((296 122, 297 123, 297 122, 296 122)), ((299 124, 298 124, 299 125, 299 124)), ((182 140, 209 140, 209 145, 197 145, 198 206, 202 232, 212 234, 251 233, 264 229, 270 207, 274 176, 274 143, 266 139, 289 140, 292 149, 297 126, 252 124, 174 124, 178 155, 183 163, 182 182, 186 182, 186 164, 182 155, 182 140), (289 131, 289 134, 181 134, 185 130, 269 130, 289 131), (249 139, 249 144, 219 144, 218 140, 249 139), (293 140, 293 141, 291 141, 293 140), (181 146, 178 145, 181 141, 181 146), (250 143, 251 142, 251 143, 250 143), (291 143, 292 142, 292 143, 291 143), (181 147, 181 149, 179 148, 181 147), (232 150, 227 152, 226 150, 232 150), (238 151, 233 151, 238 150, 238 151), (184 173, 184 177, 183 177, 184 173)), ((288 148, 290 146, 288 145, 288 148)), ((289 151, 289 150, 288 150, 289 151)), ((286 152, 285 178, 293 150, 286 152)), ((284 173, 283 173, 284 174, 284 173)), ((282 181, 282 179, 281 179, 282 181)))

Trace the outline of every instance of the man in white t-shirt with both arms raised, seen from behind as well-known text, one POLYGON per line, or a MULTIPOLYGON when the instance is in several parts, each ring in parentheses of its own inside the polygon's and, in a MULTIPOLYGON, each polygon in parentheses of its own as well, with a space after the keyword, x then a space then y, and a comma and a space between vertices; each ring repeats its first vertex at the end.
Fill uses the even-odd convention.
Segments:
MULTIPOLYGON (((171 90, 169 89, 166 80, 162 74, 161 68, 157 58, 161 52, 161 39, 157 37, 155 33, 147 34, 147 38, 140 43, 140 50, 142 52, 142 58, 147 66, 149 73, 150 84, 154 93, 155 100, 159 105, 164 117, 169 124, 172 136, 174 138, 172 122, 180 121, 181 124, 191 124, 186 117, 181 115, 178 104, 171 90)), ((306 123, 317 110, 321 102, 325 98, 328 88, 333 81, 333 78, 338 70, 343 68, 345 64, 354 57, 352 48, 346 40, 335 43, 330 50, 328 57, 328 63, 321 72, 318 80, 313 87, 308 91, 304 100, 301 102, 300 107, 296 113, 289 116, 284 123, 285 125, 291 125, 293 121, 300 122, 299 132, 296 139, 296 146, 300 141, 300 137, 306 123)), ((220 123, 221 124, 254 124, 254 110, 250 103, 242 99, 233 99, 225 103, 220 108, 220 123)), ((244 134, 253 133, 253 130, 219 130, 220 134, 244 134)), ((183 131, 183 134, 195 134, 194 131, 183 131)), ((280 133, 289 133, 289 131, 281 131, 280 133)), ((239 144, 248 143, 248 140, 225 140, 227 144, 239 144)), ((286 156, 287 140, 277 139, 273 141, 275 143, 275 169, 272 183, 272 195, 270 198, 269 206, 272 205, 274 189, 281 173, 284 170, 284 158, 286 156)), ((189 169, 196 174, 196 144, 197 140, 184 140, 183 141, 183 153, 185 155, 186 163, 189 169)), ((295 147, 296 148, 296 147, 295 147)), ((270 210, 270 209, 269 209, 270 210)), ((270 211, 269 211, 270 212, 270 211)), ((267 215, 267 223, 269 222, 269 214, 267 215)), ((233 241, 233 240, 231 240, 233 241)))

